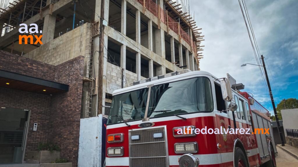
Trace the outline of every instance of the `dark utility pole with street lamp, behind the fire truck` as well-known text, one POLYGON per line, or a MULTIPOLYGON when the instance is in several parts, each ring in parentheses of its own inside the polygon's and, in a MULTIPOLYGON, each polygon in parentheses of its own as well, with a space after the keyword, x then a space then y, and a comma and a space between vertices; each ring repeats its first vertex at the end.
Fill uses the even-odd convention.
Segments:
POLYGON ((266 66, 265 66, 263 55, 261 55, 261 59, 262 59, 262 62, 263 62, 263 68, 264 68, 265 75, 266 75, 266 80, 267 80, 267 84, 268 84, 268 89, 269 89, 269 94, 270 94, 270 98, 271 98, 271 103, 272 103, 272 107, 273 107, 273 111, 274 111, 274 115, 275 115, 275 119, 276 119, 276 123, 277 123, 277 130, 278 130, 278 133, 280 134, 281 145, 282 146, 285 146, 285 142, 283 141, 283 133, 282 133, 282 130, 281 130, 281 127, 280 127, 279 119, 277 117, 277 111, 276 111, 276 108, 275 108, 274 99, 273 99, 273 95, 272 95, 272 91, 271 91, 271 86, 270 86, 270 83, 269 83, 269 78, 268 78, 268 74, 267 74, 267 70, 266 70, 266 66))

